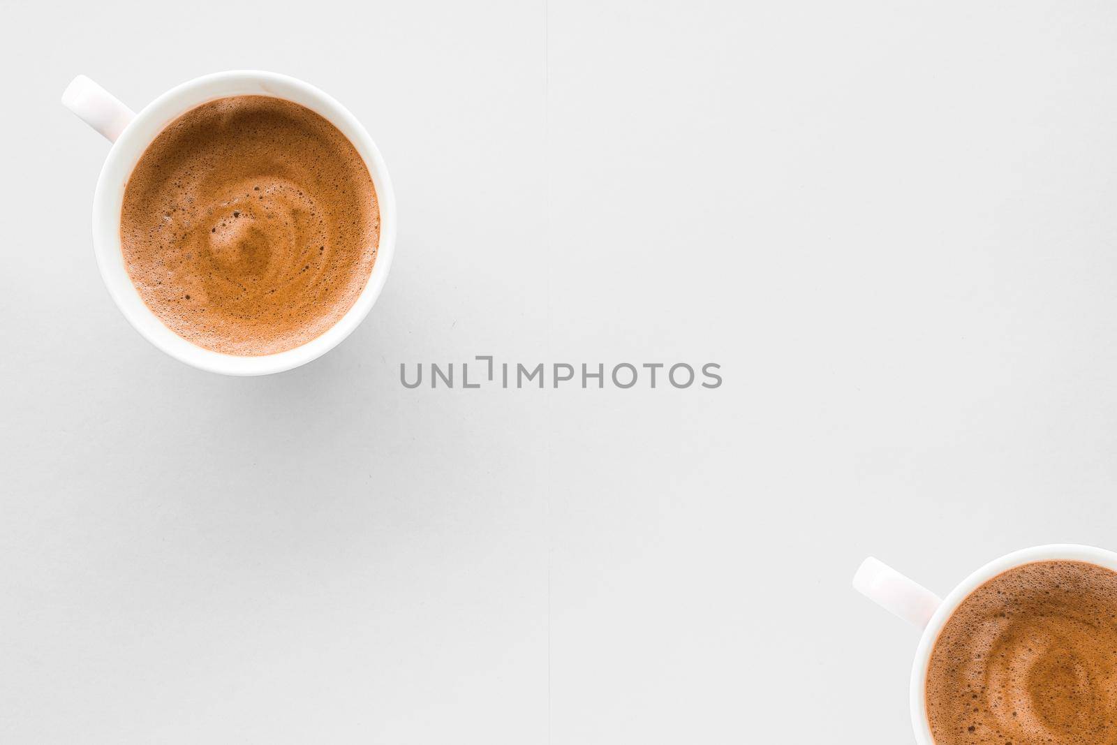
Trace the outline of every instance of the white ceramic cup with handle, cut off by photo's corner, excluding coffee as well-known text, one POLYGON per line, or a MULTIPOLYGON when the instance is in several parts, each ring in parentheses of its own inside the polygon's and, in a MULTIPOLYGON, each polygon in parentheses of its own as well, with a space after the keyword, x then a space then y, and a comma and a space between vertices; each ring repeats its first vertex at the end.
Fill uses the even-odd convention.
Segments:
POLYGON ((925 704, 927 666, 930 663, 930 652, 938 639, 938 632, 943 630, 951 614, 970 596, 970 593, 997 574, 1021 564, 1047 561, 1088 562, 1117 572, 1117 553, 1111 551, 1073 544, 1035 546, 985 564, 963 580, 944 600, 939 600, 935 593, 871 556, 861 563, 857 574, 853 575, 853 588, 885 610, 923 630, 911 665, 911 725, 915 727, 915 738, 919 745, 935 743, 930 736, 925 704))

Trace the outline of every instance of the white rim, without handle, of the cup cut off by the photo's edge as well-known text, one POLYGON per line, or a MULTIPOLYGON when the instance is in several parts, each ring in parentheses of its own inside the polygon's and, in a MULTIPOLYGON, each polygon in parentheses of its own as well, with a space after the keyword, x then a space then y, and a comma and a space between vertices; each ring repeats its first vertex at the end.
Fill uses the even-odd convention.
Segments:
POLYGON ((930 617, 923 637, 919 639, 919 647, 916 649, 915 660, 911 663, 911 725, 915 727, 916 741, 919 745, 935 745, 930 734, 930 723, 927 720, 927 707, 925 704, 927 690, 927 667, 930 663, 930 652, 938 640, 938 634, 946 625, 963 600, 994 576, 1008 572, 1009 570, 1043 561, 1076 561, 1105 566, 1117 572, 1117 553, 1073 543, 1053 543, 1042 546, 1022 548, 1011 554, 1005 554, 1000 558, 994 558, 970 576, 963 580, 951 591, 938 605, 934 615, 930 617))

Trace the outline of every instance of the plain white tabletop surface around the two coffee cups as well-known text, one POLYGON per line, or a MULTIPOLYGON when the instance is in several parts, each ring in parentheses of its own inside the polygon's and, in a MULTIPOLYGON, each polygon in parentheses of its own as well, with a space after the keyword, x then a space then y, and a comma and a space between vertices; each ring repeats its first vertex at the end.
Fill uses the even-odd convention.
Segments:
POLYGON ((1117 547, 1108 3, 0 12, 4 743, 907 743, 865 554, 1117 547), (361 118, 401 225, 255 380, 112 305, 58 104, 241 67, 361 118), (399 383, 476 354, 725 384, 399 383))

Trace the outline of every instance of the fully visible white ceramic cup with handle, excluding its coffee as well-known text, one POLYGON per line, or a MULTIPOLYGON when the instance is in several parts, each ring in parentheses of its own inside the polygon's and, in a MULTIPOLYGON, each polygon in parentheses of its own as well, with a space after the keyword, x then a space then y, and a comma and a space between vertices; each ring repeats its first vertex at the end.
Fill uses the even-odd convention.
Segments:
POLYGON ((93 198, 93 247, 101 276, 124 317, 144 338, 189 365, 227 375, 283 372, 325 354, 356 328, 372 308, 388 278, 395 246, 395 193, 376 144, 341 104, 312 85, 286 75, 231 70, 194 78, 171 88, 134 114, 99 85, 79 75, 63 94, 63 104, 107 137, 105 159, 93 198), (317 112, 349 137, 364 159, 380 202, 380 246, 372 275, 353 307, 324 334, 286 352, 260 356, 221 354, 191 344, 163 325, 144 305, 124 267, 121 250, 121 207, 132 169, 152 140, 194 106, 226 96, 265 95, 302 104, 317 112))

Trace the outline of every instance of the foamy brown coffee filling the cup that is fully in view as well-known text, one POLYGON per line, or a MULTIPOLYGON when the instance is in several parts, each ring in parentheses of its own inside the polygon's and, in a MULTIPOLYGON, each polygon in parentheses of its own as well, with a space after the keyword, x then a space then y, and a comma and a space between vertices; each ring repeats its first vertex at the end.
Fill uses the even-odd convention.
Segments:
POLYGON ((353 307, 376 259, 369 169, 337 127, 270 96, 193 108, 128 178, 124 264, 174 333, 237 355, 319 336, 353 307))

